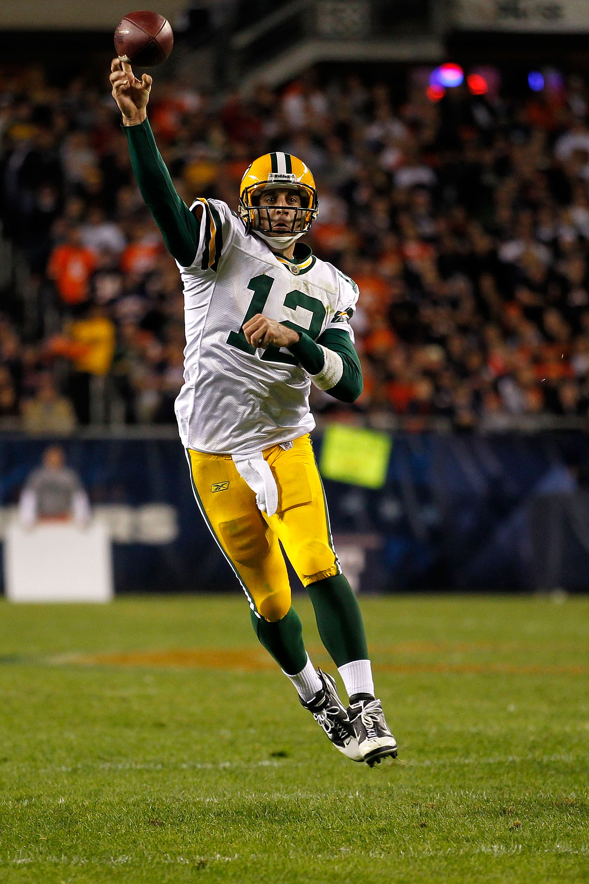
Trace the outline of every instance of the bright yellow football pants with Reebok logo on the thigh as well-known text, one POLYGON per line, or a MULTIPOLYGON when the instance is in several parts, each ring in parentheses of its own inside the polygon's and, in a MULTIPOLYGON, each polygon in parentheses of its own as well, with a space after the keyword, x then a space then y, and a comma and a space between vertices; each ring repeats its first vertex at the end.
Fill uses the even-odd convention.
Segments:
POLYGON ((255 494, 229 454, 188 449, 200 511, 238 575, 250 607, 274 622, 291 607, 279 541, 305 586, 341 571, 311 438, 307 434, 295 439, 286 451, 272 446, 263 455, 278 487, 278 509, 269 517, 258 509, 255 494))

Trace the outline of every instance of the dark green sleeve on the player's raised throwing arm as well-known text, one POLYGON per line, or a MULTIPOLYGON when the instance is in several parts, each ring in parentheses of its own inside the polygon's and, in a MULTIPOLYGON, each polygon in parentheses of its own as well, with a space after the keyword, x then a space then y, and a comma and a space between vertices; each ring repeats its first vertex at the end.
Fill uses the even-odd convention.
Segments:
POLYGON ((170 255, 188 267, 198 248, 198 222, 176 193, 147 119, 139 126, 125 126, 125 134, 132 170, 147 209, 160 228, 170 255))

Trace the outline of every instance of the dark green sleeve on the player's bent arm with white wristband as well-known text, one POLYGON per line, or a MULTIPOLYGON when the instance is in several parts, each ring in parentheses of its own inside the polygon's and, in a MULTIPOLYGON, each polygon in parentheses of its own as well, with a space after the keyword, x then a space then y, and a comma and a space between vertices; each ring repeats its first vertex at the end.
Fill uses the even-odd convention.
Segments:
POLYGON ((303 333, 298 343, 292 344, 289 350, 312 377, 321 377, 321 372, 326 369, 325 353, 321 347, 337 354, 342 361, 341 377, 333 386, 320 383, 321 389, 342 402, 355 402, 362 392, 362 369, 347 331, 328 329, 317 343, 303 333))

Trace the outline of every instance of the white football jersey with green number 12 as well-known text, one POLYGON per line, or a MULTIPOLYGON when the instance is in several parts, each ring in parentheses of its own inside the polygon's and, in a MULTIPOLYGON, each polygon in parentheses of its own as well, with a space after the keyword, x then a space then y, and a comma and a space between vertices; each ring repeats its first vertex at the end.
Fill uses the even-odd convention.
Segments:
MULTIPOLYGON (((199 248, 178 264, 185 293, 184 386, 176 400, 180 438, 196 451, 248 455, 313 430, 310 380, 284 347, 254 349, 242 326, 263 313, 319 338, 328 328, 352 335, 358 288, 309 255, 277 257, 218 200, 202 206, 199 248)), ((353 337, 352 337, 353 340, 353 337)))

